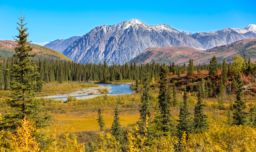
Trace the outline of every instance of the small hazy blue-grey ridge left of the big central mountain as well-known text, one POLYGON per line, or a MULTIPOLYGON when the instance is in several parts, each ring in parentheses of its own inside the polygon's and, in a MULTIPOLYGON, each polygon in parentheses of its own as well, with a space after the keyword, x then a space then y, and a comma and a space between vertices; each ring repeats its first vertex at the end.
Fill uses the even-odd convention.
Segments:
POLYGON ((79 39, 79 38, 80 38, 79 36, 74 36, 68 39, 61 39, 61 40, 57 39, 55 41, 51 41, 45 44, 44 46, 62 53, 65 49, 68 48, 70 44, 72 44, 76 39, 79 39))

